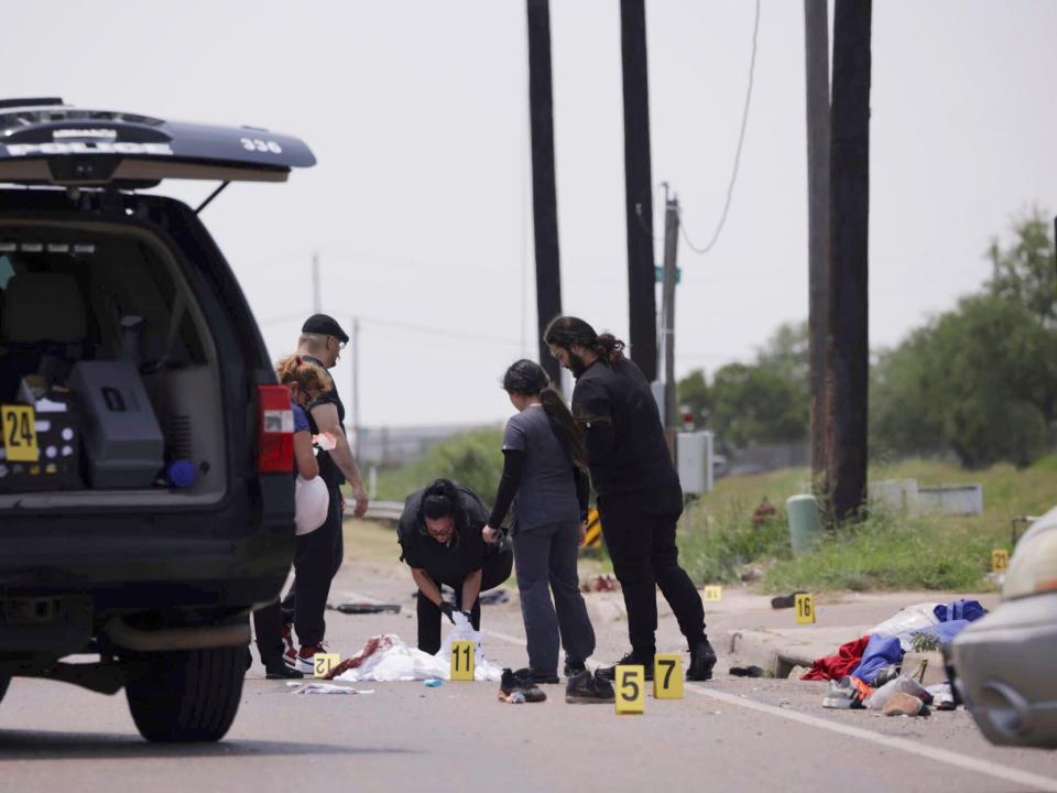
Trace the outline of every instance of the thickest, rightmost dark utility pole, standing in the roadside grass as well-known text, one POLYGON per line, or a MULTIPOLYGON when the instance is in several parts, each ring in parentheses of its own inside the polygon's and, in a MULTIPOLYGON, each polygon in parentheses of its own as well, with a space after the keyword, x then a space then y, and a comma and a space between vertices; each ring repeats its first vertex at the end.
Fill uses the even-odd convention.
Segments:
POLYGON ((853 517, 867 493, 871 7, 872 0, 833 7, 827 460, 837 521, 853 517))

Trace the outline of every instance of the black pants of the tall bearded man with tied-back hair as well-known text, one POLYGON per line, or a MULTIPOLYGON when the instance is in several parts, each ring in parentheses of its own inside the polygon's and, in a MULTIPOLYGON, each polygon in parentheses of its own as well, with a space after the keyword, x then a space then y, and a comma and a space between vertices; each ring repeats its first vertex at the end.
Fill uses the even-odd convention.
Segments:
POLYGON ((642 496, 598 499, 602 534, 613 573, 624 593, 632 651, 642 658, 656 652, 657 595, 668 601, 679 630, 693 649, 705 639, 705 605, 682 567, 675 545, 678 513, 654 513, 642 496))

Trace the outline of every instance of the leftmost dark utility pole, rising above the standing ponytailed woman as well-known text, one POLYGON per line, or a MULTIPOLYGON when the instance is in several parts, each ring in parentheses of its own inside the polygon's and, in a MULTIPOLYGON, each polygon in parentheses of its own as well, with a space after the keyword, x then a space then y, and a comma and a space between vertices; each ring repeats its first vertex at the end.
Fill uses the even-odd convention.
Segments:
POLYGON ((536 251, 536 321, 540 363, 555 384, 562 368, 543 334, 562 314, 558 198, 554 176, 554 100, 551 79, 551 3, 526 0, 528 19, 528 117, 532 135, 532 214, 536 251))

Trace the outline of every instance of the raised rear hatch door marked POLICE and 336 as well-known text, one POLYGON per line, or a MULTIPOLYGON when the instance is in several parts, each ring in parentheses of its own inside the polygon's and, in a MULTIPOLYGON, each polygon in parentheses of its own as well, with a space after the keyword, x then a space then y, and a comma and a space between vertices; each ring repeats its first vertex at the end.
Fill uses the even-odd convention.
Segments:
POLYGON ((0 182, 146 187, 166 178, 285 182, 316 162, 290 135, 89 110, 61 99, 0 101, 0 182))

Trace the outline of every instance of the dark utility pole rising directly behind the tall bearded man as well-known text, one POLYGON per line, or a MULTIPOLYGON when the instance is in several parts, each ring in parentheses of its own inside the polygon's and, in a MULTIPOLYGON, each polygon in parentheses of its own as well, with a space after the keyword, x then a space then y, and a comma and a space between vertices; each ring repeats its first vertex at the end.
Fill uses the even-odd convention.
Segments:
POLYGON ((644 0, 620 0, 624 87, 624 194, 631 357, 646 380, 657 379, 656 276, 653 263, 653 176, 650 167, 650 86, 644 0))

